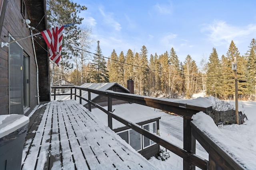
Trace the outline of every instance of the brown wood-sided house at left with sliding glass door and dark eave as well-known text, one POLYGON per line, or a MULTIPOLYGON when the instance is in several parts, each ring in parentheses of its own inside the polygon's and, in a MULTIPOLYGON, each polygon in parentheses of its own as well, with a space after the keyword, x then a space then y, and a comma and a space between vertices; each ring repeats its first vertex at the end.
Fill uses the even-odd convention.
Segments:
MULTIPOLYGON (((46 29, 45 0, 0 1, 2 43, 46 29)), ((44 39, 34 38, 34 43, 29 37, 0 47, 0 115, 28 113, 39 96, 40 101, 50 101, 47 46, 44 39)))

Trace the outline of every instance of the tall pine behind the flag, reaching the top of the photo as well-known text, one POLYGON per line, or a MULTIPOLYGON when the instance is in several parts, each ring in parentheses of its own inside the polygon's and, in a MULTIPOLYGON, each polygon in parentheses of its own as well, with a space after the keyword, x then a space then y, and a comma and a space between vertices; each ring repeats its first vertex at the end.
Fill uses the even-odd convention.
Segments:
MULTIPOLYGON (((70 0, 47 0, 46 11, 48 27, 61 26, 68 23, 81 24, 83 18, 80 18, 77 14, 86 9, 85 6, 81 6, 70 0)), ((61 78, 67 70, 73 68, 73 64, 70 60, 73 56, 78 55, 78 50, 74 48, 79 45, 80 28, 78 24, 66 27, 63 33, 60 68, 58 68, 58 71, 61 73, 61 78)), ((52 63, 52 80, 55 75, 54 66, 55 64, 52 63)))

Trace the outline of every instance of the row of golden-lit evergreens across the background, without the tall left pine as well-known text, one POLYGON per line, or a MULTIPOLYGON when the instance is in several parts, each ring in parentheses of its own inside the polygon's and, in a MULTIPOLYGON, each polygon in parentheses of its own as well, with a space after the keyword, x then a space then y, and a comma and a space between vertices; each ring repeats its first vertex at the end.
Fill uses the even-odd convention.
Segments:
POLYGON ((164 95, 166 98, 185 96, 204 91, 207 96, 220 99, 234 99, 234 70, 232 63, 236 59, 238 95, 240 100, 254 100, 256 89, 256 40, 252 39, 245 55, 240 55, 234 41, 231 41, 226 56, 219 59, 215 48, 208 61, 201 61, 198 68, 196 62, 187 55, 180 62, 176 51, 172 48, 164 54, 148 55, 148 50, 142 46, 140 52, 128 49, 126 54, 112 51, 107 62, 103 57, 98 41, 96 53, 84 70, 74 70, 69 74, 69 80, 79 82, 118 82, 127 87, 127 80, 134 80, 134 93, 146 96, 164 95), (148 60, 149 59, 149 60, 148 60), (84 80, 77 80, 75 74, 86 74, 84 80), (73 75, 73 76, 72 76, 73 75))

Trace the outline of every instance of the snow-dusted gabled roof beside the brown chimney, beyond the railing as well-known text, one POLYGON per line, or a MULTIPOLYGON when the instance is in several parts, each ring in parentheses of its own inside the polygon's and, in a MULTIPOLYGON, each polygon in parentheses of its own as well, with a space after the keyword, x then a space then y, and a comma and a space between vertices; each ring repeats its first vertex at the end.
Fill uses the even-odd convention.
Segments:
MULTIPOLYGON (((124 86, 122 86, 121 84, 118 84, 117 82, 108 82, 108 83, 84 83, 82 84, 80 87, 82 88, 91 88, 91 89, 95 89, 95 90, 108 90, 110 88, 112 88, 113 86, 120 86, 121 88, 123 88, 124 90, 126 90, 127 92, 129 92, 129 90, 127 88, 125 88, 124 86)), ((74 89, 73 89, 74 91, 74 89)), ((66 94, 70 94, 70 90, 68 92, 66 92, 66 94)), ((76 94, 79 95, 79 90, 76 91, 76 94)), ((91 100, 95 99, 96 97, 98 97, 98 94, 91 94, 91 100)), ((85 99, 88 99, 88 92, 87 91, 82 91, 82 97, 85 99)), ((74 97, 72 97, 74 98, 74 97)), ((60 96, 59 100, 70 100, 70 95, 68 96, 60 96)), ((79 102, 79 100, 77 100, 77 102, 79 102)), ((87 102, 82 100, 82 105, 86 105, 87 102)))

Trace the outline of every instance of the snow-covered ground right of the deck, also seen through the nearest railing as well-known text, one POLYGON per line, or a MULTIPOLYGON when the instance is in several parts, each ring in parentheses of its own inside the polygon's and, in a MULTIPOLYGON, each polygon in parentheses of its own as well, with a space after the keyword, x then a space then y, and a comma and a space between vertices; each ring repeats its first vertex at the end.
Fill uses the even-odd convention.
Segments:
MULTIPOLYGON (((234 101, 229 102, 234 105, 234 101)), ((219 131, 218 133, 221 135, 228 137, 230 139, 229 142, 231 141, 233 146, 240 146, 237 150, 234 150, 234 153, 237 154, 234 156, 243 159, 243 161, 248 164, 248 169, 256 169, 255 160, 250 157, 248 158, 248 155, 252 155, 254 158, 256 156, 256 102, 239 101, 239 110, 244 111, 247 115, 248 121, 246 125, 224 125, 222 129, 217 128, 217 131, 219 131)), ((159 113, 161 115, 160 135, 166 140, 183 147, 183 118, 169 115, 161 111, 159 111, 159 113)), ((224 142, 224 145, 226 145, 228 149, 232 148, 229 146, 230 143, 224 142)), ((196 154, 208 160, 208 153, 197 141, 196 154)), ((162 170, 183 169, 182 158, 172 152, 170 152, 170 158, 166 161, 160 161, 154 157, 149 161, 162 170)))

